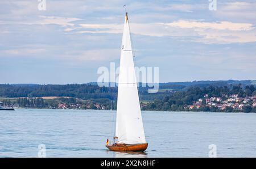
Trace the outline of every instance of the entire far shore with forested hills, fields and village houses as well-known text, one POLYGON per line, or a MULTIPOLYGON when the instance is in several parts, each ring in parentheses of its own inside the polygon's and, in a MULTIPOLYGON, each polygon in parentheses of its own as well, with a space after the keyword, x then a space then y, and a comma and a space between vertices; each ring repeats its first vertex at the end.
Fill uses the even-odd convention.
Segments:
MULTIPOLYGON (((159 83, 138 87, 145 111, 256 112, 255 81, 159 83)), ((0 105, 24 108, 117 109, 118 87, 97 84, 0 84, 0 105)))

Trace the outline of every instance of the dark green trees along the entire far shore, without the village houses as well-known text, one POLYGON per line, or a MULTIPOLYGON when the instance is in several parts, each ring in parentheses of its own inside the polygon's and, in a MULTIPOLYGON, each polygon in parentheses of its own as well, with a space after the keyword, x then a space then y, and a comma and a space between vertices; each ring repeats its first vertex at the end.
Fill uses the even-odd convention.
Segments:
MULTIPOLYGON (((170 87, 172 86, 168 86, 168 88, 170 87)), ((151 111, 217 112, 220 111, 220 109, 214 106, 201 106, 197 109, 188 109, 186 106, 192 105, 200 98, 204 98, 205 94, 207 94, 209 98, 222 98, 223 95, 232 94, 237 94, 239 98, 256 96, 254 85, 248 85, 245 87, 241 84, 232 86, 189 87, 186 90, 184 90, 184 87, 176 87, 180 88, 180 90, 174 90, 172 92, 163 90, 156 94, 148 94, 147 88, 139 88, 139 97, 142 101, 142 109, 151 111)), ((163 89, 163 87, 160 89, 163 89)), ((117 87, 98 87, 93 84, 48 84, 35 86, 0 84, 0 96, 18 98, 12 100, 3 99, 2 102, 4 105, 28 108, 57 108, 59 104, 66 103, 68 108, 78 104, 77 107, 84 109, 116 109, 117 90, 117 87), (43 99, 42 96, 57 96, 60 98, 43 99), (64 98, 64 96, 68 98, 64 98)), ((205 102, 203 102, 203 105, 205 105, 205 102)), ((222 111, 234 112, 236 110, 227 107, 222 111)), ((255 112, 255 107, 245 105, 242 111, 255 112)))

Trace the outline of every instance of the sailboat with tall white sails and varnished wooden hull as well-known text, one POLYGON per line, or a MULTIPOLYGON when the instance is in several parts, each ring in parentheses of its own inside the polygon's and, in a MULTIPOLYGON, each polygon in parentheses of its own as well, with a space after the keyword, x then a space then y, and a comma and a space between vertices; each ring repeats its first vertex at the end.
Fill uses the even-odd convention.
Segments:
POLYGON ((106 143, 106 147, 113 151, 144 151, 148 146, 144 136, 141 107, 139 105, 127 12, 123 26, 117 117, 113 139, 114 143, 112 145, 109 145, 109 141, 106 143))

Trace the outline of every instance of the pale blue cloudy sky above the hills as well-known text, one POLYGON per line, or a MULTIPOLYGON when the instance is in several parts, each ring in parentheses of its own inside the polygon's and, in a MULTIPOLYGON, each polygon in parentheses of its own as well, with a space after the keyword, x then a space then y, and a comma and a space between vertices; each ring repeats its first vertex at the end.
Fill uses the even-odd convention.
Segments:
MULTIPOLYGON (((42 0, 41 0, 42 1, 42 0)), ((119 65, 125 9, 135 65, 160 82, 256 79, 256 2, 0 1, 0 83, 95 82, 119 65)))

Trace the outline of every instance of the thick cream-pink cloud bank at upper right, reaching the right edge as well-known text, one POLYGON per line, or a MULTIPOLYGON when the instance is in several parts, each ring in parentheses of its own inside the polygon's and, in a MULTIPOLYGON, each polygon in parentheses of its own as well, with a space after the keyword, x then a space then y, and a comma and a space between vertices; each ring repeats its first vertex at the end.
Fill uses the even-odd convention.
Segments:
POLYGON ((201 22, 195 20, 179 20, 172 23, 162 23, 168 27, 189 29, 197 34, 192 41, 207 44, 250 43, 256 41, 256 29, 251 23, 232 22, 201 22))

